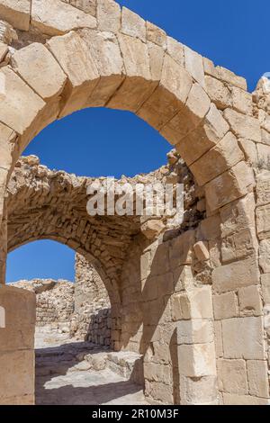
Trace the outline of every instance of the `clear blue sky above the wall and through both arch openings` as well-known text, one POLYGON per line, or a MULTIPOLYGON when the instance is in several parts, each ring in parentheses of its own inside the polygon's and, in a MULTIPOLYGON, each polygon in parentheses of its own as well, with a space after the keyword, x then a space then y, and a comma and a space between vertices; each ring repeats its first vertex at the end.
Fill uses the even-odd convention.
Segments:
MULTIPOLYGON (((269 0, 120 0, 177 40, 247 78, 252 91, 270 71, 269 0)), ((135 175, 166 161, 169 146, 129 112, 89 109, 43 130, 24 154, 77 175, 135 175)), ((7 280, 74 277, 74 253, 50 241, 8 257, 7 280), (34 258, 33 258, 34 257, 34 258)))

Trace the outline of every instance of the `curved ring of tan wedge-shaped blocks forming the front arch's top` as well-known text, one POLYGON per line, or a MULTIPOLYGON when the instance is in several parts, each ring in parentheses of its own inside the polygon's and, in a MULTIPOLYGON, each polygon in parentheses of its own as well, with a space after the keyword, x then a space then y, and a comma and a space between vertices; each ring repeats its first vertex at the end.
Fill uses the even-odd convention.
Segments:
MULTIPOLYGON (((207 93, 208 71, 200 55, 115 2, 101 2, 101 10, 107 5, 108 11, 97 14, 96 21, 59 1, 61 23, 45 11, 46 2, 36 0, 31 9, 31 29, 42 33, 43 43, 16 50, 0 72, 6 146, 1 186, 18 155, 49 122, 81 108, 105 106, 135 112, 175 145, 205 186, 212 211, 247 193, 248 167, 207 93), (229 193, 220 189, 217 177, 231 186, 229 193)), ((15 17, 12 21, 18 25, 15 17)))

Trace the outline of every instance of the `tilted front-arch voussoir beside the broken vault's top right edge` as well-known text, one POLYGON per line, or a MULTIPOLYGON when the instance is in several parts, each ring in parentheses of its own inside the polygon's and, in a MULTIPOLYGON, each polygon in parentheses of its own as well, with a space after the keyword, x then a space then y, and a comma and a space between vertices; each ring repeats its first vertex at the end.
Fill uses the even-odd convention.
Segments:
POLYGON ((227 169, 238 164, 244 155, 238 147, 238 140, 228 132, 223 139, 190 167, 198 184, 203 185, 227 169))

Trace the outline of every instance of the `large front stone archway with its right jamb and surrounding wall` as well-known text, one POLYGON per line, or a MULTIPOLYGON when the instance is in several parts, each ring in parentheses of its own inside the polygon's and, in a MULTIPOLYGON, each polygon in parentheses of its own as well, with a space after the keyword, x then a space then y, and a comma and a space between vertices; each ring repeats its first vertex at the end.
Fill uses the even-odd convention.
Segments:
MULTIPOLYGON (((207 204, 207 218, 189 238, 188 252, 184 250, 181 260, 182 240, 163 244, 160 239, 154 254, 149 246, 141 246, 139 253, 150 267, 153 260, 154 267, 158 265, 159 254, 176 267, 191 267, 190 250, 197 251, 201 262, 211 262, 213 296, 209 296, 209 282, 205 289, 195 279, 193 290, 207 291, 202 301, 208 305, 213 301, 213 313, 197 311, 193 290, 166 293, 173 296, 177 330, 181 334, 189 325, 193 334, 191 344, 181 337, 175 344, 183 357, 189 357, 177 376, 178 383, 182 380, 181 401, 205 402, 196 392, 218 372, 221 402, 266 403, 263 307, 269 302, 265 194, 269 169, 263 175, 258 170, 269 155, 267 94, 258 90, 252 98, 244 78, 215 67, 112 0, 23 0, 20 4, 0 0, 0 17, 8 23, 1 23, 0 50, 1 282, 7 250, 4 191, 23 149, 51 121, 85 107, 134 112, 175 146, 202 187, 207 204), (189 304, 186 313, 180 312, 183 304, 189 304), (215 320, 216 352, 195 338, 197 320, 200 324, 215 320), (241 342, 235 347, 238 338, 241 342), (257 347, 251 347, 251 339, 257 340, 257 347), (211 363, 209 372, 200 367, 202 357, 211 363), (231 373, 240 374, 240 387, 238 381, 229 382, 231 373)), ((167 273, 174 271, 167 269, 167 273)), ((156 280, 160 276, 153 275, 156 280)), ((148 281, 147 287, 153 284, 149 275, 143 280, 148 281)), ((144 288, 142 295, 148 295, 144 288)), ((137 323, 131 332, 138 329, 137 323)), ((148 326, 156 323, 154 319, 148 326)), ((149 332, 152 337, 152 329, 149 332)), ((151 337, 148 341, 156 342, 151 337)), ((160 381, 153 377, 148 378, 149 391, 159 401, 155 392, 160 381)))

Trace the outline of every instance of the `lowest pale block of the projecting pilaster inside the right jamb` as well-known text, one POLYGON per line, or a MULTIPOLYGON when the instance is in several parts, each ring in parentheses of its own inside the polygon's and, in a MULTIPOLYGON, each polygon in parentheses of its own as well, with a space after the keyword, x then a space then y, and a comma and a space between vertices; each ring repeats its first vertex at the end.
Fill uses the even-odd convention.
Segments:
POLYGON ((215 376, 202 376, 198 380, 180 376, 181 405, 210 404, 217 399, 215 376))

